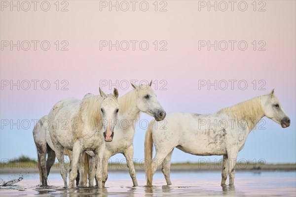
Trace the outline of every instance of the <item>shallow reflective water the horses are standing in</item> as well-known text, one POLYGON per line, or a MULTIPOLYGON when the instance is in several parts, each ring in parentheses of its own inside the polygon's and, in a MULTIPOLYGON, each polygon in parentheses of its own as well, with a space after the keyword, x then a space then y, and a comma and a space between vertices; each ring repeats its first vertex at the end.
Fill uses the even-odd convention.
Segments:
POLYGON ((4 181, 24 177, 15 186, 0 187, 0 196, 126 196, 126 197, 196 197, 196 196, 296 196, 296 171, 292 172, 236 172, 235 187, 221 187, 221 172, 172 172, 172 185, 166 186, 161 172, 153 177, 153 187, 145 187, 145 173, 138 172, 139 187, 132 187, 128 172, 109 172, 104 189, 63 189, 60 174, 49 175, 50 187, 39 184, 38 174, 1 174, 4 181))

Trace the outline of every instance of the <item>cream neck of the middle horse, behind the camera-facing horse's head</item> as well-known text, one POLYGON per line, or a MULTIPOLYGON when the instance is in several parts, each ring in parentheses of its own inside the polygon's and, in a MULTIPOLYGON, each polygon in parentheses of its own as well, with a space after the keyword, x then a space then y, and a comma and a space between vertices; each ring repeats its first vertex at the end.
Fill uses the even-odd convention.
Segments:
POLYGON ((128 92, 118 99, 119 115, 122 119, 126 119, 129 122, 139 117, 140 110, 136 103, 137 95, 134 90, 128 92))

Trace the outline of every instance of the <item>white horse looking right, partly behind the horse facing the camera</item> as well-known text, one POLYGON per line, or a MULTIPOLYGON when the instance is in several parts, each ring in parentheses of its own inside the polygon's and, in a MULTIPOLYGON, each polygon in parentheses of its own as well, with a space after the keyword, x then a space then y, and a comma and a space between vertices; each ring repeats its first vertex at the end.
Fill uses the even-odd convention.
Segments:
MULTIPOLYGON (((108 161, 113 155, 118 153, 122 153, 126 158, 133 184, 134 186, 138 186, 136 171, 133 164, 135 120, 139 118, 140 112, 145 112, 153 116, 156 121, 161 121, 166 116, 166 112, 156 99, 156 95, 151 88, 151 82, 149 86, 144 84, 142 86, 134 86, 132 84, 132 86, 134 90, 118 98, 120 108, 118 113, 119 127, 114 128, 116 134, 113 137, 113 141, 106 143, 103 156, 103 187, 105 187, 108 178, 108 161)), ((91 167, 91 169, 93 168, 91 167)), ((82 172, 80 172, 80 174, 82 174, 82 172)), ((94 173, 90 172, 90 186, 93 185, 93 180, 94 173)))

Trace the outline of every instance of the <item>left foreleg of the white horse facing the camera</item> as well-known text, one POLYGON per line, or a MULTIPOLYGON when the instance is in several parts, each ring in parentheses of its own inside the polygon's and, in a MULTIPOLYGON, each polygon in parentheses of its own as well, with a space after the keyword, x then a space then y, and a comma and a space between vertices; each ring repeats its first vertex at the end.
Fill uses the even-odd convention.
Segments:
POLYGON ((74 181, 77 177, 78 162, 82 153, 80 142, 77 140, 73 145, 71 172, 69 173, 69 188, 74 188, 74 181))

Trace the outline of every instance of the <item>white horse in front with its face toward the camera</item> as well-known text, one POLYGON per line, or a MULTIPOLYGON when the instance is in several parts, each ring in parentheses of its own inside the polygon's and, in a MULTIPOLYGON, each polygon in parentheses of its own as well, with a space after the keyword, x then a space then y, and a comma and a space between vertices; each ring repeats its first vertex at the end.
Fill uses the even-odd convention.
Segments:
POLYGON ((87 94, 82 100, 74 98, 61 100, 48 114, 49 134, 60 164, 64 187, 67 187, 67 169, 64 164, 64 148, 67 148, 73 151, 69 188, 74 187, 78 160, 83 151, 94 151, 97 165, 96 178, 98 187, 102 188, 102 157, 105 141, 112 141, 114 134, 112 123, 116 122, 119 106, 116 89, 113 95, 108 96, 100 89, 100 95, 87 94))

